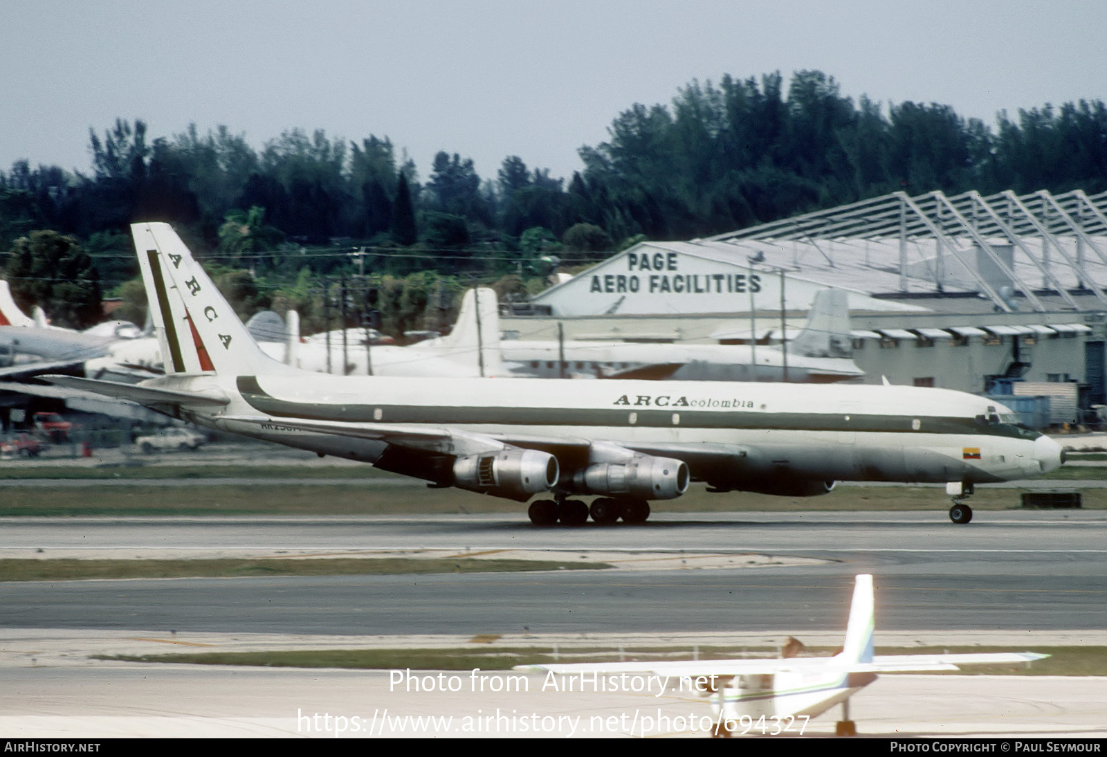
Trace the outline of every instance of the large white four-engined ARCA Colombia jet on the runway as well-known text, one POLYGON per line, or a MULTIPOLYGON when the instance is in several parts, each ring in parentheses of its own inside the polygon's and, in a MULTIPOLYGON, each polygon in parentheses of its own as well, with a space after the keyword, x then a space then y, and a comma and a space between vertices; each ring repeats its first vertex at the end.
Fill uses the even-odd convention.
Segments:
MULTIPOLYGON (((266 356, 167 224, 132 227, 166 375, 58 376, 219 431, 527 501, 538 525, 641 522, 691 480, 808 496, 836 480, 981 481, 1053 470, 1002 405, 914 386, 333 376, 266 356), (573 495, 597 495, 587 506, 573 495)), ((951 518, 968 522, 956 504, 951 518)))

